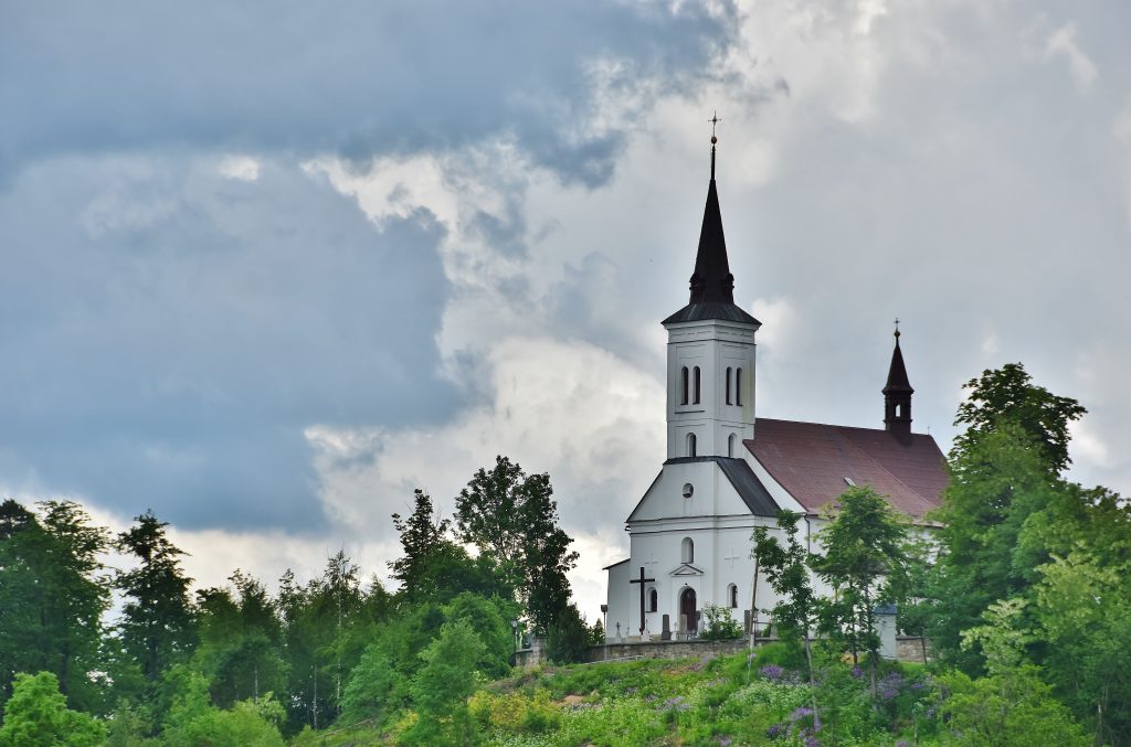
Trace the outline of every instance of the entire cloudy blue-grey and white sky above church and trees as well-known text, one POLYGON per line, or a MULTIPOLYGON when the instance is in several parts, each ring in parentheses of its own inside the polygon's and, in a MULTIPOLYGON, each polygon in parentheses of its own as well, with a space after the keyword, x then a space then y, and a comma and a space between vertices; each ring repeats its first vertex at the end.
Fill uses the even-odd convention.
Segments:
POLYGON ((1131 5, 0 0, 0 495, 200 584, 385 575, 549 471, 582 613, 664 459, 710 127, 758 415, 915 429, 1020 361, 1131 494, 1131 5))

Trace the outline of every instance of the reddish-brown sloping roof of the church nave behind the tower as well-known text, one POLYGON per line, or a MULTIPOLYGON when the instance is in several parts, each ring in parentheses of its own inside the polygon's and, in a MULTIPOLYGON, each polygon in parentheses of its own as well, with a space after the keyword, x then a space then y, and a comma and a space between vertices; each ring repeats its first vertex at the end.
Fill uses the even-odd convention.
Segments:
POLYGON ((914 518, 938 507, 947 487, 942 452, 929 435, 913 434, 905 444, 887 431, 758 418, 744 443, 811 513, 848 489, 846 477, 914 518))

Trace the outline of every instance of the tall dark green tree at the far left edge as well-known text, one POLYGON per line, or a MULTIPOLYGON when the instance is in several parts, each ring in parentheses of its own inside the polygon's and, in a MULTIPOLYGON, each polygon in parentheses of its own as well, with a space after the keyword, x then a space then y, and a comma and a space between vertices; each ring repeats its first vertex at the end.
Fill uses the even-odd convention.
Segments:
POLYGON ((107 532, 76 503, 38 505, 36 516, 15 501, 0 504, 0 704, 17 671, 50 671, 72 706, 101 712, 89 672, 103 670, 107 532))

